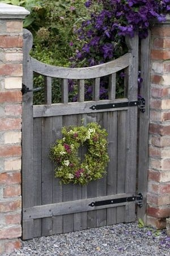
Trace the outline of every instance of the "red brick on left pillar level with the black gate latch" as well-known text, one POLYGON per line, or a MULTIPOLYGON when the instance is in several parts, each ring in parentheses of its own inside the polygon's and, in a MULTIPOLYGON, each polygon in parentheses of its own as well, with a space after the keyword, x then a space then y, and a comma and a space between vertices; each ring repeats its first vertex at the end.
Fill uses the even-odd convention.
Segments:
POLYGON ((4 102, 22 102, 22 92, 20 91, 7 91, 0 92, 0 103, 4 102))

